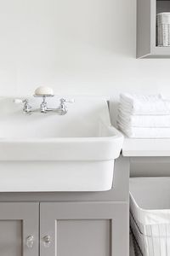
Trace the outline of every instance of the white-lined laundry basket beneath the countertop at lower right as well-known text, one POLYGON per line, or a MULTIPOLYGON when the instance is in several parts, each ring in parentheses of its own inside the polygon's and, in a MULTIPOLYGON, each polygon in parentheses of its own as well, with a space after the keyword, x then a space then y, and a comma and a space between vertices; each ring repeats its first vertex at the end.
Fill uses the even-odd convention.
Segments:
POLYGON ((136 256, 170 255, 170 177, 130 179, 130 225, 136 256))

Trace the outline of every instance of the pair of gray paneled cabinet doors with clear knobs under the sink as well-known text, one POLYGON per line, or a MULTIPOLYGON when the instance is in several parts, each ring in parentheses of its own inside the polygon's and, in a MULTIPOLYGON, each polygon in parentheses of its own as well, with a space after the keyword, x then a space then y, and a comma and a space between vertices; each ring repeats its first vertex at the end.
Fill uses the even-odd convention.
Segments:
POLYGON ((0 255, 127 256, 127 216, 123 202, 1 202, 0 255))

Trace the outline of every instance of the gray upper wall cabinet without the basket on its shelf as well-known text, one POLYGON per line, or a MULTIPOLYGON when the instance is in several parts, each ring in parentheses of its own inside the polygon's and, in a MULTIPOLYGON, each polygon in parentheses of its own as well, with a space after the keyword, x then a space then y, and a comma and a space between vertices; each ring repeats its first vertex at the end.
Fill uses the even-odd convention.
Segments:
POLYGON ((170 58, 170 47, 156 46, 156 14, 170 12, 170 0, 137 0, 137 58, 170 58))

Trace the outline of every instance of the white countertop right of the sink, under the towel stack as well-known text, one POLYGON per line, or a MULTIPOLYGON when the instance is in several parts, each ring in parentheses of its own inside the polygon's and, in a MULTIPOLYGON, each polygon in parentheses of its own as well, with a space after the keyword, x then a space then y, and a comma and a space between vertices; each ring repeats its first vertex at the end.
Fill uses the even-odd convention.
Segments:
POLYGON ((123 156, 170 156, 170 138, 133 139, 125 137, 123 156))

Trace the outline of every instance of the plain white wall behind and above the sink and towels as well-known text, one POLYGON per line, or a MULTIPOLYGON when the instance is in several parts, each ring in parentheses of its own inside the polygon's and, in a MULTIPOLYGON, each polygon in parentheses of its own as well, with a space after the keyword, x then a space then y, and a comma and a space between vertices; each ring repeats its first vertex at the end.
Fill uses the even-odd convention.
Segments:
POLYGON ((170 93, 170 60, 135 59, 136 0, 1 0, 0 94, 170 93))

